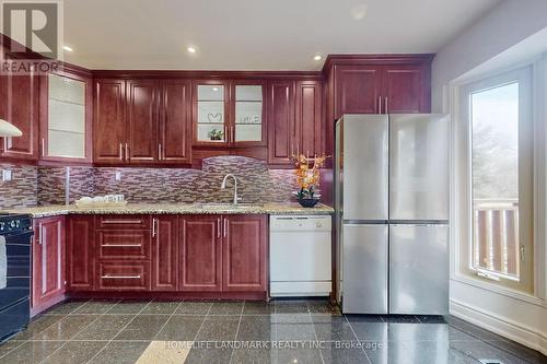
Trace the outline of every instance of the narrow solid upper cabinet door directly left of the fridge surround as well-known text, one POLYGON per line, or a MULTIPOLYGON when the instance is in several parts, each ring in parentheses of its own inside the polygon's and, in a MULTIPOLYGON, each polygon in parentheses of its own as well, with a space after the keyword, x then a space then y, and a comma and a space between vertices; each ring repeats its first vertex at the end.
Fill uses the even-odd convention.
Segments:
POLYGON ((319 81, 296 83, 298 149, 312 156, 323 151, 322 92, 319 81))

